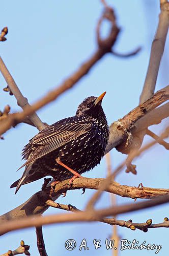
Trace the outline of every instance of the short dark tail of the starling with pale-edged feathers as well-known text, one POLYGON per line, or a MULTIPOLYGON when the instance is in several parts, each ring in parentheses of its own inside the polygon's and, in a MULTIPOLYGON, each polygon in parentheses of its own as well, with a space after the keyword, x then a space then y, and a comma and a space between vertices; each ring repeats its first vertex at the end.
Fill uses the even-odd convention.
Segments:
POLYGON ((45 174, 43 172, 39 172, 38 169, 33 170, 32 165, 33 164, 27 165, 24 169, 22 177, 19 180, 15 181, 10 186, 10 188, 16 187, 15 194, 17 193, 17 191, 19 190, 21 185, 24 185, 24 184, 27 184, 27 183, 30 183, 30 182, 33 182, 33 181, 36 181, 36 180, 39 180, 39 179, 45 177, 45 174))

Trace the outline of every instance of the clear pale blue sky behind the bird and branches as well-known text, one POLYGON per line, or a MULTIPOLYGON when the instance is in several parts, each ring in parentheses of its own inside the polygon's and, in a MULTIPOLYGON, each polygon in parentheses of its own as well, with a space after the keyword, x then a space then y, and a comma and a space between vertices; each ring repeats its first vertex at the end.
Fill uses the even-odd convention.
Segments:
MULTIPOLYGON (((107 1, 108 2, 108 1, 107 1)), ((109 1, 113 4, 118 24, 121 27, 119 38, 114 50, 126 53, 138 46, 142 51, 131 58, 117 58, 111 54, 106 55, 83 77, 76 86, 62 95, 57 101, 50 103, 38 111, 40 118, 51 124, 62 118, 73 116, 78 104, 87 96, 100 95, 107 91, 103 101, 103 108, 108 123, 123 117, 133 109, 139 100, 140 92, 147 71, 151 41, 158 24, 159 1, 109 1)), ((102 11, 99 1, 9 1, 1 0, 0 27, 8 26, 8 40, 1 44, 0 54, 9 71, 13 75, 23 95, 30 103, 45 95, 50 89, 58 86, 66 77, 88 59, 96 49, 95 28, 102 11)), ((107 26, 103 26, 103 35, 107 26)), ((168 39, 164 56, 160 66, 156 90, 168 84, 168 39)), ((0 75, 1 88, 6 86, 0 75)), ((18 111, 14 97, 1 90, 0 109, 10 104, 12 112, 18 111)), ((160 125, 151 129, 160 133, 168 123, 164 120, 160 125)), ((21 165, 21 150, 23 146, 37 133, 34 127, 26 124, 18 125, 7 132, 1 141, 1 208, 0 214, 21 204, 41 188, 42 181, 37 181, 20 188, 17 195, 10 185, 20 178, 22 170, 16 173, 21 165), (5 195, 5 196, 4 196, 5 195)), ((146 137, 144 143, 150 141, 146 137)), ((112 166, 115 168, 125 155, 115 149, 111 151, 112 166)), ((144 186, 168 188, 168 153, 160 145, 146 152, 135 160, 137 175, 126 174, 124 171, 118 176, 117 182, 124 185, 137 186, 140 182, 144 186)), ((84 176, 95 178, 105 177, 105 159, 84 176)), ((79 209, 86 206, 94 191, 87 190, 85 195, 80 191, 69 191, 65 198, 58 202, 75 205, 79 209)), ((131 199, 117 197, 118 203, 132 203, 131 199)), ((140 200, 137 200, 140 201, 140 200)), ((109 195, 103 193, 97 207, 109 204, 109 195)), ((119 219, 132 219, 133 222, 145 222, 153 219, 154 223, 162 222, 167 216, 168 205, 133 212, 118 216, 119 219)), ((61 213, 59 209, 50 208, 44 215, 61 213)), ((111 255, 110 250, 94 249, 93 239, 100 239, 102 244, 111 236, 111 226, 103 223, 72 223, 46 226, 44 239, 48 255, 58 253, 63 255, 111 255), (78 251, 78 246, 85 238, 90 249, 78 251), (67 251, 64 247, 66 240, 74 239, 77 247, 67 251)), ((118 228, 122 239, 132 241, 136 239, 139 244, 145 240, 150 244, 161 244, 162 249, 158 255, 166 255, 168 244, 168 230, 165 228, 151 229, 147 233, 139 230, 131 231, 127 228, 118 228)), ((31 245, 32 255, 38 255, 36 248, 36 234, 34 228, 11 232, 1 237, 0 253, 14 249, 20 240, 31 245)), ((124 250, 120 255, 154 255, 155 251, 124 250)))

